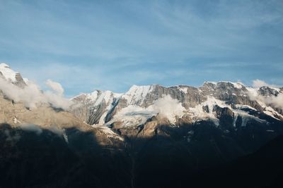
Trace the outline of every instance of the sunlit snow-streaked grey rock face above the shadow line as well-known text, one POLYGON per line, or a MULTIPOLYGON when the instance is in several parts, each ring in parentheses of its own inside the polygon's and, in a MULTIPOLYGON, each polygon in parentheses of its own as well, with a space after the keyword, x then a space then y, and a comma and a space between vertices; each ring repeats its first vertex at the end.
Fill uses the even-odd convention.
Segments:
POLYGON ((77 96, 73 112, 90 125, 111 127, 122 134, 132 130, 138 135, 156 115, 163 119, 158 125, 174 127, 207 120, 236 129, 240 122, 245 127, 250 122, 270 125, 270 120, 282 121, 282 109, 266 100, 282 94, 271 87, 233 82, 204 82, 202 87, 133 86, 125 94, 96 91, 77 96))

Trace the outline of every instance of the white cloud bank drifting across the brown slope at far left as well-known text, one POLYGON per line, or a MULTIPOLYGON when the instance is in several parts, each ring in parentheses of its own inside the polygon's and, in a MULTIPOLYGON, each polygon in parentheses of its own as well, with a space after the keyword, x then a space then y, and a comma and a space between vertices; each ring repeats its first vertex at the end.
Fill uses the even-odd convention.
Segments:
POLYGON ((0 78, 0 90, 15 102, 23 101, 23 104, 28 108, 36 108, 36 104, 46 103, 54 108, 67 109, 71 106, 72 102, 64 98, 64 89, 61 84, 47 80, 47 86, 50 90, 42 92, 40 87, 33 82, 28 82, 24 88, 20 88, 7 80, 0 78))

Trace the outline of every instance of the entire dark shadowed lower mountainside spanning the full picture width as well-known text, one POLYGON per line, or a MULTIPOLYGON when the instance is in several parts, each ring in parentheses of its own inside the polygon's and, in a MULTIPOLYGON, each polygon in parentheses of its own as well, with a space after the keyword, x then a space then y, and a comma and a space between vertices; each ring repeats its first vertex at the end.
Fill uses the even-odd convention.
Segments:
POLYGON ((255 144, 259 140, 246 139, 247 148, 255 153, 243 156, 247 151, 241 142, 224 137, 214 125, 200 123, 183 129, 159 127, 154 137, 128 138, 124 146, 114 147, 101 146, 95 134, 76 128, 67 129, 65 139, 39 127, 21 130, 2 124, 0 187, 282 185, 282 136, 262 147, 255 144), (186 129, 195 132, 191 142, 182 139, 186 129))

